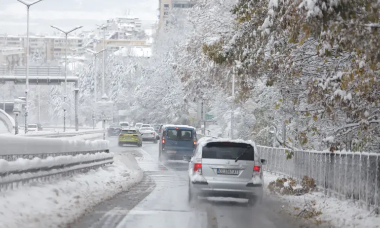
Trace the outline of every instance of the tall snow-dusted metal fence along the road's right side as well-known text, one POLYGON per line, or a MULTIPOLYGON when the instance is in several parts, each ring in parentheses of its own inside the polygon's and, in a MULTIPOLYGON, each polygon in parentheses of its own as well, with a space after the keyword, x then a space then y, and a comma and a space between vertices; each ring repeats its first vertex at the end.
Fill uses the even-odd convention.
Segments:
MULTIPOLYGON (((210 137, 198 134, 198 139, 210 137)), ((212 137, 217 138, 217 137, 212 137)), ((368 210, 380 206, 380 153, 293 151, 257 145, 268 163, 264 170, 302 182, 314 179, 319 190, 351 199, 368 210)))

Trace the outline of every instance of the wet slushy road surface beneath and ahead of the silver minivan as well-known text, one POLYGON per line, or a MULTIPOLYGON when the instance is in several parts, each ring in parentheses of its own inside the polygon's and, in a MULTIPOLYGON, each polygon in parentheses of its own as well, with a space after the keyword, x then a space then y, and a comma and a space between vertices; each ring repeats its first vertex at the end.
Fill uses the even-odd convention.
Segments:
POLYGON ((142 182, 94 208, 71 228, 298 228, 300 221, 281 212, 283 203, 265 198, 262 205, 247 207, 245 200, 201 199, 187 202, 186 162, 158 162, 158 145, 118 148, 111 151, 140 153, 136 157, 145 171, 142 182))

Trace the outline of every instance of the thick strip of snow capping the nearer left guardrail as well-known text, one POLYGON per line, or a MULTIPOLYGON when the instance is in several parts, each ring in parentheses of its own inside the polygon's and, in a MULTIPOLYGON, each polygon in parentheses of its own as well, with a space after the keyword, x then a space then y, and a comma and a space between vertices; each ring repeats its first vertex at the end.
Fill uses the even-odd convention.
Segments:
POLYGON ((33 159, 18 158, 16 161, 6 161, 0 159, 0 173, 12 172, 12 171, 22 171, 28 169, 37 169, 41 167, 53 167, 56 165, 68 165, 76 162, 86 162, 91 160, 97 160, 102 158, 112 158, 113 153, 95 153, 95 154, 78 154, 76 156, 56 156, 47 157, 46 159, 41 159, 35 157, 33 159))

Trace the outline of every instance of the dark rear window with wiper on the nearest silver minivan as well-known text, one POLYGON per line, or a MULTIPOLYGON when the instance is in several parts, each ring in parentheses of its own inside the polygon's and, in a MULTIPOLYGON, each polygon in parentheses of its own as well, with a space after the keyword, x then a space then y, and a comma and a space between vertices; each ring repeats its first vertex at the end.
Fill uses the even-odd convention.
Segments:
POLYGON ((202 148, 202 158, 253 161, 255 152, 251 145, 245 143, 217 142, 208 143, 202 148), (247 150, 247 152, 245 152, 247 150))

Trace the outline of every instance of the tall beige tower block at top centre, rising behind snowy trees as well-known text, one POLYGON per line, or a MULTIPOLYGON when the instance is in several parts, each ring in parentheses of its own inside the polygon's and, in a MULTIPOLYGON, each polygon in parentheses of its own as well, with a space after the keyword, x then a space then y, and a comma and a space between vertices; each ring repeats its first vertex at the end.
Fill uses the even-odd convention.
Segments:
POLYGON ((172 9, 187 9, 195 5, 196 0, 158 0, 159 9, 159 30, 167 30, 170 24, 170 10, 172 9))

